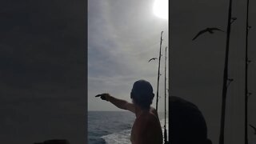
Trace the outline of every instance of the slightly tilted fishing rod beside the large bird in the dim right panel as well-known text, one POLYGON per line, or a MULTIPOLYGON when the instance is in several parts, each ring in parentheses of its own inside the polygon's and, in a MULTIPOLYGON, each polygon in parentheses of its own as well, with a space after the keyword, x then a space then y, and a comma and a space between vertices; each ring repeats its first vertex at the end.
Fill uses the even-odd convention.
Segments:
POLYGON ((222 115, 221 115, 219 144, 224 144, 226 92, 230 82, 232 81, 230 78, 228 78, 228 57, 229 57, 229 49, 230 49, 231 13, 232 13, 232 0, 230 0, 230 4, 229 4, 228 22, 227 22, 227 31, 226 31, 227 33, 226 34, 226 55, 225 55, 225 65, 224 65, 224 74, 223 74, 223 86, 222 86, 222 115), (227 83, 228 81, 230 82, 227 83))

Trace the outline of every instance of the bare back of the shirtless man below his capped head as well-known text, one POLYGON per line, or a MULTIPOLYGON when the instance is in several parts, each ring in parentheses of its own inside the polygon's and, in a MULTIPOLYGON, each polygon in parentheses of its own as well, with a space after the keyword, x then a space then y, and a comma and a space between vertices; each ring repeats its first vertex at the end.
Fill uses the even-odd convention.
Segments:
POLYGON ((131 130, 132 144, 162 144, 162 128, 156 110, 142 111, 131 130))

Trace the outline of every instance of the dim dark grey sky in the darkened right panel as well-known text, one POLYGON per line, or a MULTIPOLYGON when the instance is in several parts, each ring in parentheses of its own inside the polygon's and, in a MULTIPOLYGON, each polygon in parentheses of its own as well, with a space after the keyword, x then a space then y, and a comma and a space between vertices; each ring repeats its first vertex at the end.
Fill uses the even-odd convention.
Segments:
MULTIPOLYGON (((248 123, 256 125, 255 90, 255 1, 250 2, 249 98, 248 123)), ((229 78, 234 78, 226 98, 226 143, 244 143, 244 58, 246 1, 233 1, 230 37, 229 78)), ((226 31, 228 1, 170 1, 170 95, 193 102, 202 111, 208 125, 209 138, 218 143, 220 127, 222 76, 226 33, 203 34, 192 38, 206 27, 226 31)), ((254 131, 248 127, 249 143, 255 143, 254 131)))

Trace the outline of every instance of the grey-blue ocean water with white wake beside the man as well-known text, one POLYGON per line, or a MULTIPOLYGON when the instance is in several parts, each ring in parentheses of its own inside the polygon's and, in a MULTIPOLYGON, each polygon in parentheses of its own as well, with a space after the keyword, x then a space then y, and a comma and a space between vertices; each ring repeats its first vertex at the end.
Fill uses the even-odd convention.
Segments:
MULTIPOLYGON (((164 114, 158 115, 163 130, 164 114)), ((130 130, 134 120, 135 114, 129 111, 89 111, 88 144, 130 144, 130 130)))

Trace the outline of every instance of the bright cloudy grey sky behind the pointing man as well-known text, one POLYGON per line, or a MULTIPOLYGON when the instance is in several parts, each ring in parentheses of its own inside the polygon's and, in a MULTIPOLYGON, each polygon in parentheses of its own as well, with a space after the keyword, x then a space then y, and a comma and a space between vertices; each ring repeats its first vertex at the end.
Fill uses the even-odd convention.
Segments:
POLYGON ((164 110, 168 21, 154 15, 153 6, 153 0, 88 1, 88 110, 119 110, 94 96, 109 93, 130 102, 130 90, 139 79, 153 86, 155 107, 158 61, 148 61, 159 56, 161 31, 164 32, 158 110, 164 110))

